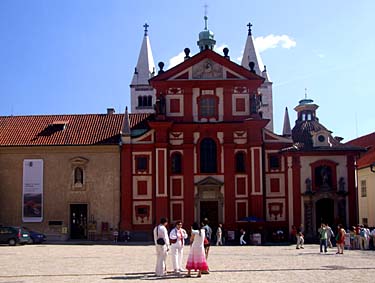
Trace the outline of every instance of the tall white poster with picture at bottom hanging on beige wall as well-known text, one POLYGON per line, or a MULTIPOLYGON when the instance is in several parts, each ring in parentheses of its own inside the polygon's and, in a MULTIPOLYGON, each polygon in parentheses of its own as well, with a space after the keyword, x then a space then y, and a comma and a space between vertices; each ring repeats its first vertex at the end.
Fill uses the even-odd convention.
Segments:
POLYGON ((43 160, 23 161, 22 221, 43 220, 43 160))

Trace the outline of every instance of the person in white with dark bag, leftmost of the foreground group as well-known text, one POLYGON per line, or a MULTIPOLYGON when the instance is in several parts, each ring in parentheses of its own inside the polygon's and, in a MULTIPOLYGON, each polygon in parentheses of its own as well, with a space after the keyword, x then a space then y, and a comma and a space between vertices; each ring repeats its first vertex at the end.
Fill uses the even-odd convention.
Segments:
POLYGON ((167 231, 168 219, 162 217, 160 224, 154 228, 154 242, 156 247, 156 276, 166 274, 166 259, 169 251, 169 237, 167 231))

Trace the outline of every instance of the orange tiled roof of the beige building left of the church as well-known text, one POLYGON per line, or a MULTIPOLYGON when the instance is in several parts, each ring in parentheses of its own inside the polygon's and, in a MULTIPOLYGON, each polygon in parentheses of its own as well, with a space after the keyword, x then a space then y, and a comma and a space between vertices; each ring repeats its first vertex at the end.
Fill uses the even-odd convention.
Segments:
MULTIPOLYGON (((129 114, 135 127, 150 114, 129 114)), ((118 144, 124 114, 0 116, 0 146, 118 144)))

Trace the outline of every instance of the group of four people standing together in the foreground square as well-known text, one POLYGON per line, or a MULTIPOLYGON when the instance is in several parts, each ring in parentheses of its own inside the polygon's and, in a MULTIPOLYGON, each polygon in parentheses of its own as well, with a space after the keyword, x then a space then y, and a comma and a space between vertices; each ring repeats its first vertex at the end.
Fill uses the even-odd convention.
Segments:
POLYGON ((154 242, 156 246, 156 276, 165 276, 166 260, 168 253, 172 256, 172 265, 175 273, 187 270, 187 276, 191 276, 191 271, 198 271, 197 277, 208 274, 207 258, 210 249, 210 239, 212 229, 208 225, 208 220, 204 219, 201 225, 194 222, 190 231, 190 251, 185 265, 182 264, 183 249, 188 233, 182 228, 182 221, 177 221, 174 228, 168 233, 168 219, 162 217, 160 224, 154 228, 154 242))

